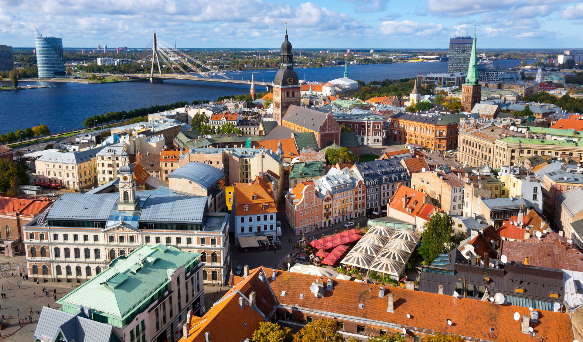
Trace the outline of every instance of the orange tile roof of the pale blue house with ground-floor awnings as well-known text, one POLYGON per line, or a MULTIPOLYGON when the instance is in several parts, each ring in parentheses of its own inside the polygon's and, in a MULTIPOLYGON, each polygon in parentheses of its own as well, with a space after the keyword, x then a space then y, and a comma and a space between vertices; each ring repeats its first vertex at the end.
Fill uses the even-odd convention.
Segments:
MULTIPOLYGON (((271 183, 270 183, 271 184, 271 183)), ((254 215, 265 214, 267 212, 278 212, 275 206, 275 200, 271 196, 271 187, 267 188, 263 182, 235 183, 234 184, 234 201, 236 215, 254 215), (257 199, 252 199, 252 194, 257 195, 257 199), (268 207, 263 210, 263 204, 267 203, 268 207), (248 205, 249 210, 244 211, 244 206, 248 205)))

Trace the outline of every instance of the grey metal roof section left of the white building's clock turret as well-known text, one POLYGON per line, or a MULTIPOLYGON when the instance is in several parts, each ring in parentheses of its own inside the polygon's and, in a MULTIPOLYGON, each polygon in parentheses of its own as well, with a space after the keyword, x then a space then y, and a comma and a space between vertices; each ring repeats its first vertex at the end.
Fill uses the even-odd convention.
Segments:
POLYGON ((48 219, 107 220, 120 194, 63 194, 52 205, 48 219))

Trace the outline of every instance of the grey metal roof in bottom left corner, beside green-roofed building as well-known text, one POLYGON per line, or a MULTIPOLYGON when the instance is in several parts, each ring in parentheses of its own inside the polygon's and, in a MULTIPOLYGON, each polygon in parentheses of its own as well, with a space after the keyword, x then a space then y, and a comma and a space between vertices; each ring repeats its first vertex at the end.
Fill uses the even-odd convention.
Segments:
POLYGON ((57 340, 61 333, 68 342, 108 342, 114 333, 113 326, 61 310, 43 307, 34 330, 34 338, 57 340))

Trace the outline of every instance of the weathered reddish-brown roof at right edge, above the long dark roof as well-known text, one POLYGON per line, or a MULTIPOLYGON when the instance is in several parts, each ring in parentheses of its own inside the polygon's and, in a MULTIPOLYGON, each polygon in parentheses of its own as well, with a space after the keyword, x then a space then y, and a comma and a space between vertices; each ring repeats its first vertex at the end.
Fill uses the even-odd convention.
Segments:
POLYGON ((524 261, 528 257, 528 264, 532 266, 583 270, 583 251, 555 232, 543 234, 540 240, 536 236, 524 242, 503 240, 500 254, 508 261, 524 261))

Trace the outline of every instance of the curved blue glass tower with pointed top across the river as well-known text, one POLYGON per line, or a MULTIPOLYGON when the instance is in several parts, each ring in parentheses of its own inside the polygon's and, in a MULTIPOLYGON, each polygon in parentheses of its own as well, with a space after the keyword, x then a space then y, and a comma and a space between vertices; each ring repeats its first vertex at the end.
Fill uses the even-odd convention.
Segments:
POLYGON ((63 40, 57 37, 43 37, 34 29, 36 44, 38 78, 65 76, 63 62, 63 40))

